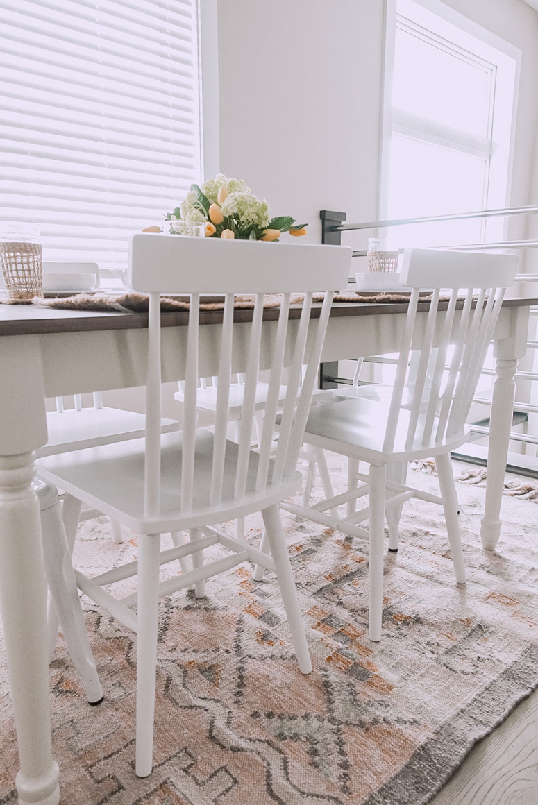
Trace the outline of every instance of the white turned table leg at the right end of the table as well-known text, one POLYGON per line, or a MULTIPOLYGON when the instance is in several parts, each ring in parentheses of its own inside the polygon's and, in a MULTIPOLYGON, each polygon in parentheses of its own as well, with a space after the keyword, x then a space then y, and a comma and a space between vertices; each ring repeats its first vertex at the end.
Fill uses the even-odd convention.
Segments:
POLYGON ((515 369, 527 349, 528 308, 511 308, 511 336, 495 342, 495 373, 487 452, 486 504, 480 537, 486 551, 495 551, 501 533, 501 501, 515 399, 515 369))

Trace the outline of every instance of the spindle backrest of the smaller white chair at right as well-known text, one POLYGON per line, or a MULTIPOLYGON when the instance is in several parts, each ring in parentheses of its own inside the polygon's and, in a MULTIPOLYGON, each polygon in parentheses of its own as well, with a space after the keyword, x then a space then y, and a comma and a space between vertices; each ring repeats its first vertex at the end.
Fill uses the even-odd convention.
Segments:
POLYGON ((387 418, 385 452, 394 449, 400 421, 407 423, 406 448, 416 445, 419 436, 422 445, 431 444, 432 439, 441 444, 463 431, 518 259, 512 254, 404 251, 400 283, 412 292, 387 418), (432 290, 425 324, 422 316, 416 316, 419 292, 424 288, 432 290), (446 312, 438 310, 441 289, 447 291, 446 312), (417 350, 418 357, 414 356, 409 382, 412 350, 417 350), (403 408, 406 383, 408 402, 403 408))

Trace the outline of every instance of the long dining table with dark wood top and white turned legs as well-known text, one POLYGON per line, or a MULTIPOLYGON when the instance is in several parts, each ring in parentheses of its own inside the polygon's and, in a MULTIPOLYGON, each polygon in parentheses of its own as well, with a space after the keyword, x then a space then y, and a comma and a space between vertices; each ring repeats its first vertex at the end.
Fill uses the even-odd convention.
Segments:
MULTIPOLYGON (((536 304, 534 298, 504 299, 495 326, 496 377, 481 529, 488 551, 495 549, 501 533, 514 375, 527 349, 529 308, 536 304)), ((404 302, 333 303, 321 360, 326 365, 397 352, 407 307, 404 302)), ((315 304, 311 316, 319 315, 320 308, 315 304)), ((417 320, 423 325, 428 308, 427 300, 419 303, 417 320)), ((278 315, 278 309, 264 310, 263 344, 275 338, 278 315)), ((292 305, 290 317, 298 322, 299 316, 300 304, 292 305)), ((201 377, 217 374, 214 345, 221 317, 218 310, 201 312, 201 377)), ((251 318, 249 309, 234 311, 236 372, 245 366, 251 318)), ((440 328, 442 318, 437 316, 440 328)), ((163 382, 184 377, 187 322, 188 312, 162 313, 163 382)), ((262 368, 263 352, 262 346, 262 368)), ((49 709, 47 588, 39 503, 31 486, 33 451, 47 442, 45 400, 143 386, 146 368, 145 313, 0 304, 0 609, 19 749, 15 785, 22 805, 56 805, 60 798, 49 709)))

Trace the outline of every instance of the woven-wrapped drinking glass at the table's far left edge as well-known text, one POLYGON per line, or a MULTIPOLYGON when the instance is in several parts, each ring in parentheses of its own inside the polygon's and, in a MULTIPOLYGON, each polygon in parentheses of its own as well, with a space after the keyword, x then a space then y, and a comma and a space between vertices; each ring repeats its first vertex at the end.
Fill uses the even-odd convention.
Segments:
POLYGON ((43 266, 40 243, 0 242, 0 263, 10 299, 31 302, 43 296, 43 266))

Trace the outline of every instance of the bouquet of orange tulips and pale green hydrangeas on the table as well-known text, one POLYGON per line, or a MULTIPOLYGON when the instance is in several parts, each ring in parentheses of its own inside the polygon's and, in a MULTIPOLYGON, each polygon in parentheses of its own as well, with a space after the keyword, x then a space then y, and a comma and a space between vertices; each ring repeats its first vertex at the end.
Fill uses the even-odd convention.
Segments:
POLYGON ((201 187, 192 184, 187 198, 166 220, 205 224, 205 237, 224 240, 278 241, 283 232, 306 234, 306 224, 297 224, 291 216, 271 218, 265 199, 256 198, 242 180, 221 173, 201 187))

